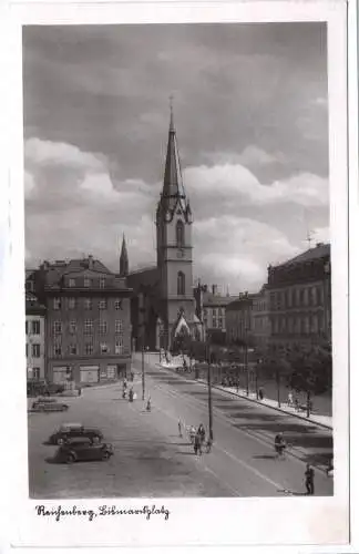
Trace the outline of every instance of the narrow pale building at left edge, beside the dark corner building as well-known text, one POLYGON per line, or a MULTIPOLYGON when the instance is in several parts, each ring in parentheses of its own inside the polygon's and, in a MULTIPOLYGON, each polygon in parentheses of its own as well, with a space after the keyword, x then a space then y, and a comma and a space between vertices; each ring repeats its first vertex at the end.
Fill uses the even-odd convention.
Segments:
POLYGON ((25 293, 27 380, 45 380, 45 307, 33 293, 25 293))

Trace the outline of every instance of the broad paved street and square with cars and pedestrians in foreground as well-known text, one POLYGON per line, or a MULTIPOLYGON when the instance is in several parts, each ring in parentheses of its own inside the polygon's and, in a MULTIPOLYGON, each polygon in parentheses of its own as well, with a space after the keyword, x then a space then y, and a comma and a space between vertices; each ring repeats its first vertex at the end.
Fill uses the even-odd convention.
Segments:
MULTIPOLYGON (((146 362, 146 398, 152 399, 147 412, 141 399, 140 358, 133 368, 133 403, 122 399, 122 384, 116 383, 64 399, 68 412, 29 413, 31 497, 299 495, 305 493, 305 462, 320 466, 331 456, 329 431, 218 390, 213 390, 213 450, 196 456, 186 434, 178 437, 177 424, 181 419, 183 425, 204 423, 207 430, 206 387, 146 362), (59 424, 76 421, 102 429, 115 450, 110 461, 52 462, 57 447, 43 442, 59 424), (278 431, 293 447, 285 460, 274 456, 278 431)), ((315 494, 332 494, 332 480, 318 468, 315 494)))

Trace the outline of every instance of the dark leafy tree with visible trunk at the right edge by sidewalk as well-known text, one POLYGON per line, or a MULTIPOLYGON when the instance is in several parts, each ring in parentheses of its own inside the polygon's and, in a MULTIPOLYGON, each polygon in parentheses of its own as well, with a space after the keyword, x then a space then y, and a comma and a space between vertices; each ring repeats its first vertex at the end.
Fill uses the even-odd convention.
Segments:
POLYGON ((311 397, 331 388, 332 357, 330 345, 306 346, 287 352, 290 372, 288 384, 297 392, 307 394, 307 418, 310 416, 311 397))

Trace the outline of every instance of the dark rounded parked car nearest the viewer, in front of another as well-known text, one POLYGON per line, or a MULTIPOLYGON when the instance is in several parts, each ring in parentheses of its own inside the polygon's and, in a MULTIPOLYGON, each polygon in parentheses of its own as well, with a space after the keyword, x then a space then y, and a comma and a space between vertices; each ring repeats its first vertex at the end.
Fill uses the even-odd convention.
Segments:
POLYGON ((112 444, 103 442, 93 443, 85 437, 69 439, 55 453, 55 461, 73 463, 80 461, 109 460, 113 455, 112 444))

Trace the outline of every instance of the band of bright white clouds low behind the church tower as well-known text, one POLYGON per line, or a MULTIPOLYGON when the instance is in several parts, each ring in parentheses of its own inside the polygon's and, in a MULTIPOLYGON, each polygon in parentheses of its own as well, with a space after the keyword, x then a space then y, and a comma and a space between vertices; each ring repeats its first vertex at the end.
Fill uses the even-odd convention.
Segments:
MULTIPOLYGON (((254 146, 245 156, 271 163, 254 146)), ((263 220, 265 211, 321 206, 328 195, 316 175, 264 185, 239 163, 188 167, 184 178, 194 213, 194 276, 233 291, 259 288, 268 264, 300 252, 277 213, 263 220)), ((24 179, 27 264, 91 253, 116 269, 122 233, 132 269, 155 264, 160 182, 121 178, 105 156, 39 137, 25 143, 24 179)))

